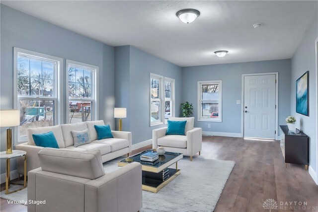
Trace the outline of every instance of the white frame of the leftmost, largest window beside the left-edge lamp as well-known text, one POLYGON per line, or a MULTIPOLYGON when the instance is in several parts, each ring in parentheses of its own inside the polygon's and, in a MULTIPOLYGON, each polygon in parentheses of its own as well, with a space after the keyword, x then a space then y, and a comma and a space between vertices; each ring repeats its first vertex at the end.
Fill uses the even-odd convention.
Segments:
MULTIPOLYGON (((13 107, 19 109, 19 100, 43 100, 43 101, 54 101, 54 125, 62 124, 63 122, 63 93, 62 88, 59 86, 62 82, 62 70, 63 70, 63 59, 46 55, 38 52, 33 52, 25 49, 13 47, 13 107), (39 96, 18 96, 17 91, 17 56, 25 55, 26 57, 39 58, 48 61, 56 62, 56 73, 54 74, 54 97, 39 97, 39 96)), ((14 128, 14 144, 19 144, 27 141, 26 136, 19 137, 18 127, 14 128)))

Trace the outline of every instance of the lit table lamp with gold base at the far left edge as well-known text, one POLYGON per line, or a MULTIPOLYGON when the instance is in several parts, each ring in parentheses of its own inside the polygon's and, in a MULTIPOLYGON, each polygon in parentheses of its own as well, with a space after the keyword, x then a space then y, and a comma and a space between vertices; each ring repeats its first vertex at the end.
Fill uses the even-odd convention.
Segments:
POLYGON ((0 110, 0 127, 8 127, 6 129, 6 153, 12 154, 12 129, 20 125, 20 111, 14 109, 0 110))

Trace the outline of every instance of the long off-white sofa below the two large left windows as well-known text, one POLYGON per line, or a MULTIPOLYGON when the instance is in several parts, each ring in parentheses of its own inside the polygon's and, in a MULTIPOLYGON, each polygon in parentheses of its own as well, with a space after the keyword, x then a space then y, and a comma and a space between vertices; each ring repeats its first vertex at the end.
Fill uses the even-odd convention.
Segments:
MULTIPOLYGON (((97 133, 94 125, 104 125, 103 120, 81 122, 76 124, 64 124, 52 127, 30 128, 27 130, 28 142, 21 143, 15 146, 15 149, 26 151, 27 172, 40 167, 38 152, 46 147, 36 146, 32 138, 32 134, 43 134, 50 131, 53 132, 59 150, 73 150, 79 152, 99 149, 102 162, 114 159, 124 154, 131 152, 132 135, 131 132, 112 131, 113 139, 97 140, 97 133), (83 131, 88 129, 89 139, 91 143, 83 144, 74 147, 74 140, 71 131, 83 131)), ((17 160, 17 172, 23 174, 23 158, 17 160)))

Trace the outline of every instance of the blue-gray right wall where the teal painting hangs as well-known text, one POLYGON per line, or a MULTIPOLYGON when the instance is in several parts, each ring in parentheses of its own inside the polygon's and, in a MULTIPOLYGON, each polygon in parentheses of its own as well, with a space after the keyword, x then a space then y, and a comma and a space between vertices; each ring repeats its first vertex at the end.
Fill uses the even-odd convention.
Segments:
POLYGON ((291 68, 291 114, 296 117, 297 125, 310 138, 309 165, 317 170, 317 116, 316 116, 316 53, 315 40, 318 37, 318 17, 314 19, 311 27, 305 34, 301 44, 292 58, 291 68), (309 71, 309 117, 296 113, 296 79, 309 71))

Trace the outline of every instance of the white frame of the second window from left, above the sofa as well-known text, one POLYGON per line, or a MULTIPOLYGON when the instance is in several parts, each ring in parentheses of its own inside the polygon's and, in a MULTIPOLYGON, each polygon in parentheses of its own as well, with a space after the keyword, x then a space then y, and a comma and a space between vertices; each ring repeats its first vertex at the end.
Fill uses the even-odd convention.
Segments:
POLYGON ((85 64, 85 63, 80 63, 77 61, 71 61, 71 60, 66 60, 66 99, 67 99, 67 104, 66 104, 66 123, 69 124, 70 120, 69 120, 69 111, 70 111, 70 106, 69 103, 70 101, 87 101, 87 102, 92 102, 92 113, 91 113, 91 118, 93 121, 98 119, 98 102, 97 102, 97 97, 98 97, 98 71, 99 67, 98 66, 94 66, 94 65, 90 65, 90 64, 85 64), (74 65, 74 66, 78 66, 78 67, 82 67, 82 68, 88 68, 88 69, 92 69, 92 90, 91 90, 91 97, 93 98, 74 98, 74 97, 69 97, 69 65, 74 65))

